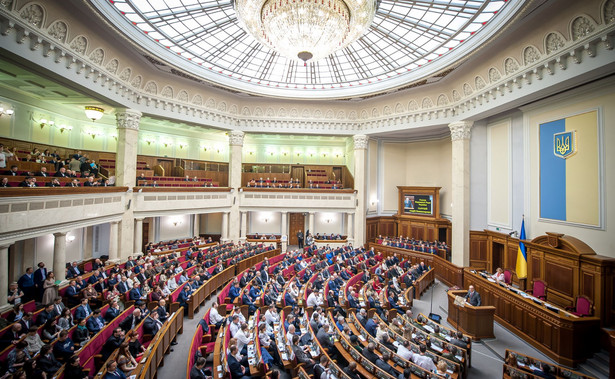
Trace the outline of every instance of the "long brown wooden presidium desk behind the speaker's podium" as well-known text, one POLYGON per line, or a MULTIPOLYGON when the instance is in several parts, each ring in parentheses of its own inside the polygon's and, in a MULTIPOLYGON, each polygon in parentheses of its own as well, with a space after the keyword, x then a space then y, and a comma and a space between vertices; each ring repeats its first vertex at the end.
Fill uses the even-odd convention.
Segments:
POLYGON ((574 367, 600 348, 597 317, 577 317, 556 305, 523 296, 518 289, 489 281, 468 268, 464 270, 463 285, 474 286, 482 305, 495 307, 498 323, 560 364, 574 367))

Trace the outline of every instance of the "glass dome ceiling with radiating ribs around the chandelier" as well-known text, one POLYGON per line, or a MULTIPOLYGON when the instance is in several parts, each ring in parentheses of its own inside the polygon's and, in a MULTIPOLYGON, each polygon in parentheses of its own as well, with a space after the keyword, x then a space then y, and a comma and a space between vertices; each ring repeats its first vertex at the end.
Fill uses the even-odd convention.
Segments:
POLYGON ((371 26, 330 56, 302 64, 242 29, 233 0, 91 0, 124 34, 209 82, 274 97, 385 92, 449 68, 497 32, 523 1, 381 0, 371 26))

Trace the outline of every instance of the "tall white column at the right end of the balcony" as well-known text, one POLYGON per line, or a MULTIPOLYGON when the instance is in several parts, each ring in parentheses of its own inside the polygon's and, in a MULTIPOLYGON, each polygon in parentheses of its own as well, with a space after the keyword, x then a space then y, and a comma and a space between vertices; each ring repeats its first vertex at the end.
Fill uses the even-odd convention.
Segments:
POLYGON ((367 145, 369 137, 357 134, 354 140, 354 189, 357 191, 357 205, 354 213, 354 245, 363 246, 365 243, 365 171, 367 169, 367 145))

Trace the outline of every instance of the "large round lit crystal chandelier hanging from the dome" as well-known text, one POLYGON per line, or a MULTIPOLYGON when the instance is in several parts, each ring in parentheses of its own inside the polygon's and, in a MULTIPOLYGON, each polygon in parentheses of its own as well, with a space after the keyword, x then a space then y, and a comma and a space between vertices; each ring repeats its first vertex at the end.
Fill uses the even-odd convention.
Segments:
POLYGON ((376 0, 235 0, 235 11, 257 41, 306 62, 361 37, 374 19, 376 0))

